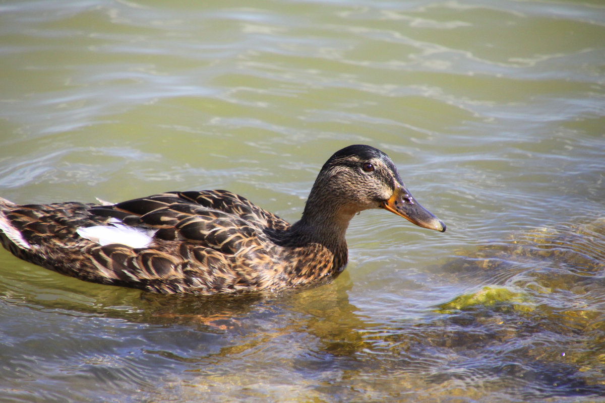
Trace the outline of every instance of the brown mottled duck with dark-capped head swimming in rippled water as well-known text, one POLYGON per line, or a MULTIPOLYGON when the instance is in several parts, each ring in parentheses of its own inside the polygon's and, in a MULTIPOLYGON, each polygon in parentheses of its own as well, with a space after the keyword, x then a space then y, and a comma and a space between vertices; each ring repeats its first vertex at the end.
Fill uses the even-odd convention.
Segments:
POLYGON ((105 285, 162 294, 280 291, 338 276, 349 222, 370 208, 446 228, 408 192, 386 153, 354 144, 321 167, 294 224, 226 190, 117 204, 0 198, 0 242, 28 262, 105 285))

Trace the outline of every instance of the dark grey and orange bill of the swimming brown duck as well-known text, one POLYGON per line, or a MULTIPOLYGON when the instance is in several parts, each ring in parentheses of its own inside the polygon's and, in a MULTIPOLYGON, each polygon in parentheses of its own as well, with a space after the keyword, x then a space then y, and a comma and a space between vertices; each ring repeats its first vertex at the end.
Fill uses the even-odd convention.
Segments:
POLYGON ((416 199, 402 185, 396 185, 393 196, 387 201, 382 202, 381 207, 391 211, 391 213, 402 216, 419 227, 445 232, 443 221, 418 204, 416 199))

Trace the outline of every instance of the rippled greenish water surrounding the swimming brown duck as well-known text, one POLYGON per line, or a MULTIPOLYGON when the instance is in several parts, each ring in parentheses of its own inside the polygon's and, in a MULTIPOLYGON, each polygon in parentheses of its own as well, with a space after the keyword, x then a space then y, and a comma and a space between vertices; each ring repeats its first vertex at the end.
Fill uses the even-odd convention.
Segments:
POLYGON ((0 195, 229 189, 289 221, 341 147, 367 211, 317 288, 80 282, 0 251, 4 401, 605 401, 600 1, 4 1, 0 195))

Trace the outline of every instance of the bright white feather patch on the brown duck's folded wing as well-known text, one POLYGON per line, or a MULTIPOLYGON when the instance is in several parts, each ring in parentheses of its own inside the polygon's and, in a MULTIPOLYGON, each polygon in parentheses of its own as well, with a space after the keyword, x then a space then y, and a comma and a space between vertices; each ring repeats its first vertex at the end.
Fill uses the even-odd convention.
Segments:
POLYGON ((123 224, 96 225, 94 227, 81 227, 77 234, 99 245, 121 243, 131 248, 146 248, 153 241, 156 230, 143 230, 142 228, 127 227, 123 224))

